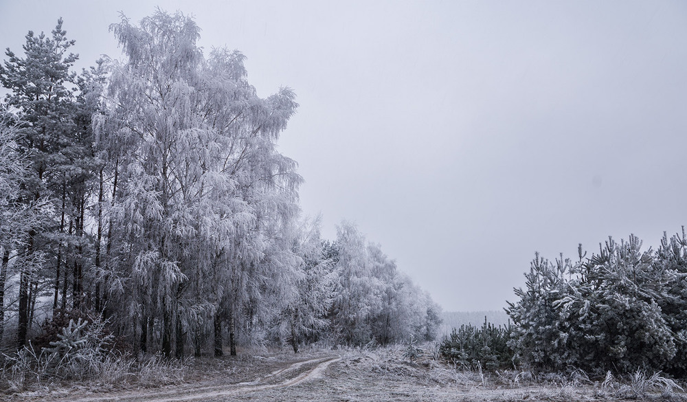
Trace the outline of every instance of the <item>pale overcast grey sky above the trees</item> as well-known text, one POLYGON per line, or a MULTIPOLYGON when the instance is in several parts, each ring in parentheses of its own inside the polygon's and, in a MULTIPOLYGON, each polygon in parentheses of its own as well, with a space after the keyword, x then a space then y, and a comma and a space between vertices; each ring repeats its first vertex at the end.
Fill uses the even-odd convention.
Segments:
POLYGON ((156 5, 300 109, 304 213, 380 243, 445 310, 501 309, 535 251, 687 225, 682 1, 10 1, 0 47, 65 19, 80 67, 156 5))

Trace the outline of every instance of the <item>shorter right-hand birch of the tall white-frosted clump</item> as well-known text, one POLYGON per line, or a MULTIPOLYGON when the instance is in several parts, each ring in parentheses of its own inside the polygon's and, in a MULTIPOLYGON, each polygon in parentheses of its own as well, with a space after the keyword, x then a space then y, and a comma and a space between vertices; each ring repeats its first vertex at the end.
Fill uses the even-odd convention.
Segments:
MULTIPOLYGON (((289 89, 260 99, 246 79, 244 57, 219 49, 207 62, 207 126, 221 138, 215 177, 232 232, 223 235, 225 284, 215 306, 229 324, 230 353, 236 353, 237 331, 246 337, 264 329, 290 291, 296 258, 284 236, 298 212, 295 161, 277 152, 280 132, 297 104, 289 89), (245 320, 242 320, 245 317, 245 320)), ((222 320, 216 320, 221 324, 222 320)), ((221 335, 221 328, 216 333, 221 335)))

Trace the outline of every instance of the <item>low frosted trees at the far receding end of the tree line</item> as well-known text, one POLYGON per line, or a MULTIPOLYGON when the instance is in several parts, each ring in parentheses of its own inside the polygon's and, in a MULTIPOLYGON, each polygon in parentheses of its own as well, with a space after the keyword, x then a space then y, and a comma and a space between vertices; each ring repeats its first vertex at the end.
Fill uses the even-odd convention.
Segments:
POLYGON ((355 225, 341 223, 337 241, 323 246, 335 261, 337 276, 328 315, 335 342, 388 344, 411 336, 436 337, 440 307, 355 225))

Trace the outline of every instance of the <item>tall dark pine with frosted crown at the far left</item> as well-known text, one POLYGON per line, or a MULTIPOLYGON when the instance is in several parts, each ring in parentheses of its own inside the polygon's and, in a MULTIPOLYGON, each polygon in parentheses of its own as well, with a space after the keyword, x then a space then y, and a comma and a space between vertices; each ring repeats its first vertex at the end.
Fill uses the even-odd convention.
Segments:
MULTIPOLYGON (((76 74, 69 71, 78 58, 68 53, 74 41, 67 39, 62 29, 62 19, 58 20, 52 36, 34 32, 26 35, 23 45, 24 58, 14 52, 5 53, 0 67, 0 82, 10 89, 6 102, 19 113, 19 138, 17 143, 21 152, 30 155, 30 170, 21 187, 21 199, 27 205, 45 199, 61 211, 62 219, 47 216, 52 223, 43 230, 32 228, 28 232, 28 242, 21 252, 27 258, 46 256, 56 267, 58 280, 61 255, 61 236, 65 232, 65 214, 69 214, 69 234, 82 238, 85 216, 85 185, 78 189, 70 188, 69 183, 82 183, 85 175, 82 166, 84 152, 88 148, 87 139, 78 145, 84 125, 78 124, 78 107, 74 95, 76 74), (69 202, 67 201, 69 200, 69 202), (70 204, 70 205, 68 205, 70 204), (69 212, 67 212, 69 210, 69 212)), ((74 264, 74 295, 80 299, 82 284, 83 245, 80 240, 70 242, 70 263, 74 264)), ((37 258, 32 258, 36 260, 37 258)), ((17 344, 21 347, 26 341, 27 330, 38 292, 41 291, 41 269, 22 269, 19 273, 19 333, 17 344)), ((49 273, 45 278, 49 278, 49 273)), ((65 267, 66 273, 66 267, 65 267)), ((66 278, 65 278, 66 279, 66 278)), ((65 282, 66 283, 66 282, 65 282)), ((66 294, 63 294, 66 298, 66 294)))

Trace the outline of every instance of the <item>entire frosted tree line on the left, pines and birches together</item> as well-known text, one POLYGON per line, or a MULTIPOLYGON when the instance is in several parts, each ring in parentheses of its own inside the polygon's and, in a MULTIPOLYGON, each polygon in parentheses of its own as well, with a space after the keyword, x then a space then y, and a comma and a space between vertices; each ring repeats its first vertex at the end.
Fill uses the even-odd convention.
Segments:
POLYGON ((301 216, 277 147, 291 89, 260 98, 245 56, 205 54, 180 12, 110 28, 123 60, 76 74, 60 19, 0 67, 0 331, 48 346, 104 322, 118 348, 179 358, 436 336, 439 307, 379 245, 301 216))

